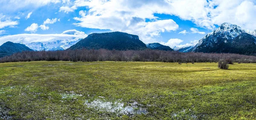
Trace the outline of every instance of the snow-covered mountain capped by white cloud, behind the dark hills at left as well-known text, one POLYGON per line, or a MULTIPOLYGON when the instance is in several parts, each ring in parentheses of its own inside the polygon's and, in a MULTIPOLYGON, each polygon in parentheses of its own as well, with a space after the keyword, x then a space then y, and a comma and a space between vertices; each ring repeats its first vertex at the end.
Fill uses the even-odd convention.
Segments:
POLYGON ((0 45, 7 41, 21 43, 35 51, 65 50, 73 46, 87 34, 76 30, 67 30, 62 34, 16 34, 0 37, 0 45))

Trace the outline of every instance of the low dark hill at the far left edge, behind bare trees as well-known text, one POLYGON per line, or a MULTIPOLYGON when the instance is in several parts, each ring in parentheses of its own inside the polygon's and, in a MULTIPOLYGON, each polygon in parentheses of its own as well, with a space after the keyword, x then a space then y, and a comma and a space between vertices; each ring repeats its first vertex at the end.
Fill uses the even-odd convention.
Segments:
POLYGON ((33 50, 29 49, 29 47, 20 43, 6 42, 2 46, 0 46, 0 58, 5 56, 10 56, 14 53, 22 52, 22 51, 33 51, 33 50))

